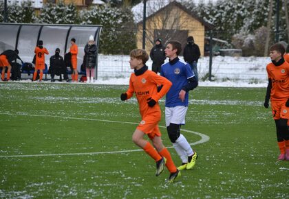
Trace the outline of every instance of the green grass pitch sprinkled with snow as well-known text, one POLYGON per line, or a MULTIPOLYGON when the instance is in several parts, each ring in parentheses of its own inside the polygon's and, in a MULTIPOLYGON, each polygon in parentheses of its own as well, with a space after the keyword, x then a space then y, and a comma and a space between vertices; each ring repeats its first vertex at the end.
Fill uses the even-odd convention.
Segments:
MULTIPOLYGON (((266 89, 190 93, 183 134, 190 143, 204 141, 191 131, 209 140, 193 145, 195 167, 172 184, 131 141, 140 116, 135 98, 120 101, 126 90, 0 83, 0 198, 289 198, 289 161, 277 161, 266 89)), ((160 126, 169 147, 164 117, 160 126)))

